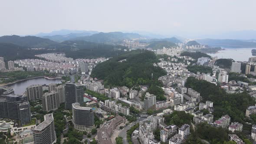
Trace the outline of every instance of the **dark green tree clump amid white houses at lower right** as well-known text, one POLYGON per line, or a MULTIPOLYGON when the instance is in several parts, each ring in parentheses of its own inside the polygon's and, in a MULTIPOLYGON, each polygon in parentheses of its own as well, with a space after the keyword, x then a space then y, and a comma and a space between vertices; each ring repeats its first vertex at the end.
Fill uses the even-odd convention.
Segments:
POLYGON ((190 114, 186 114, 185 111, 174 111, 170 115, 165 115, 164 118, 165 124, 175 124, 178 127, 181 127, 183 124, 190 124, 191 120, 193 119, 193 116, 190 114))

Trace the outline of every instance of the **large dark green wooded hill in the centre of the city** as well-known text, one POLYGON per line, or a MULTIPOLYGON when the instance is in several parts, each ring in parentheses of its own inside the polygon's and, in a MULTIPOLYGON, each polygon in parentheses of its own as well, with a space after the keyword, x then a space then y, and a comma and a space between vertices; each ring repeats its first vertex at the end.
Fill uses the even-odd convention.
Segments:
POLYGON ((98 64, 91 76, 104 79, 105 85, 110 86, 126 85, 131 88, 134 85, 146 85, 151 82, 151 73, 153 80, 166 75, 163 69, 153 66, 154 62, 158 62, 154 52, 135 50, 98 64), (124 61, 118 62, 120 60, 124 61))

